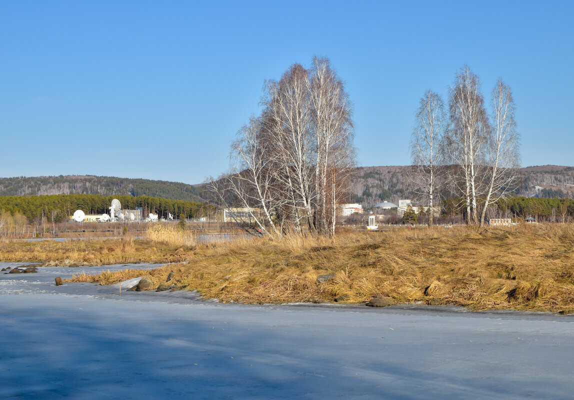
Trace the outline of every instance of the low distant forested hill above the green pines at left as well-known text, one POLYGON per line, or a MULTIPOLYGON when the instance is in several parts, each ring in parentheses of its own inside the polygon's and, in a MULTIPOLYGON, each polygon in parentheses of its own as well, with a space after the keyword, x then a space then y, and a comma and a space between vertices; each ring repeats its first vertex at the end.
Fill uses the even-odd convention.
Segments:
POLYGON ((0 196, 71 194, 150 196, 205 203, 199 187, 180 182, 92 175, 0 178, 0 196))

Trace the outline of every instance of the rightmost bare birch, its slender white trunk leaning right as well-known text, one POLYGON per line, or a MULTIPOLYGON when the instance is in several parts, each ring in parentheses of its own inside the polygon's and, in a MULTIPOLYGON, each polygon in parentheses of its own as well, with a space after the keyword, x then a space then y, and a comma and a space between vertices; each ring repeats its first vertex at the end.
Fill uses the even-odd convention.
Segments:
POLYGON ((519 134, 514 119, 512 91, 502 79, 492 90, 491 134, 488 138, 486 165, 486 193, 480 215, 480 226, 488 205, 513 192, 518 185, 519 134))

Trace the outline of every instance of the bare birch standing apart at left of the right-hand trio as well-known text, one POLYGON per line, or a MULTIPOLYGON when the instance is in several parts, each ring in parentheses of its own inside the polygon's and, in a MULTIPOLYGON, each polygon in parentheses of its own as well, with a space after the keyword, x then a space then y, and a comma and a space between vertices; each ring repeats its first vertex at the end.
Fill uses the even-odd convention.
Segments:
POLYGON ((444 171, 440 144, 446 127, 443 99, 436 92, 426 91, 420 100, 410 140, 412 170, 409 178, 413 192, 428 201, 429 226, 433 224, 433 207, 438 200, 437 192, 444 171))

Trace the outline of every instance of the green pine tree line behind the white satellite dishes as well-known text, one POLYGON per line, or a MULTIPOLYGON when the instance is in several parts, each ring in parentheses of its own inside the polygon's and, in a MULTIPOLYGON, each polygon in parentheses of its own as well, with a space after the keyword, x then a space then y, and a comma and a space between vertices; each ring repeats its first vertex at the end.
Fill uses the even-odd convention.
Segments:
POLYGON ((45 216, 54 222, 61 222, 73 215, 76 209, 87 214, 98 215, 110 212, 113 199, 122 203, 123 209, 142 207, 144 217, 150 212, 159 218, 197 218, 213 211, 213 207, 204 203, 187 200, 170 200, 150 196, 101 196, 101 195, 48 195, 48 196, 1 196, 0 210, 11 215, 24 215, 30 222, 45 216))

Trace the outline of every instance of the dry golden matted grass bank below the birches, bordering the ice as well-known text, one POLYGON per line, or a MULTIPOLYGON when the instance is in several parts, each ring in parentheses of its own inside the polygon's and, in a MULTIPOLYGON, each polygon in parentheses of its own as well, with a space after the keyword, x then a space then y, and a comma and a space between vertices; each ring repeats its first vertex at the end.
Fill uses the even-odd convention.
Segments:
POLYGON ((397 302, 455 304, 474 310, 574 312, 574 231, 569 226, 435 228, 342 232, 334 239, 257 238, 185 251, 186 265, 77 280, 117 283, 148 275, 205 298, 251 303, 397 302), (317 277, 335 278, 317 282, 317 277))

